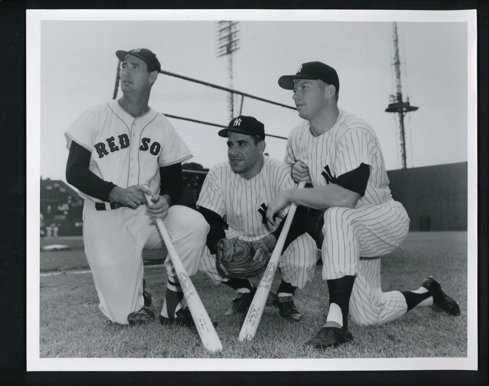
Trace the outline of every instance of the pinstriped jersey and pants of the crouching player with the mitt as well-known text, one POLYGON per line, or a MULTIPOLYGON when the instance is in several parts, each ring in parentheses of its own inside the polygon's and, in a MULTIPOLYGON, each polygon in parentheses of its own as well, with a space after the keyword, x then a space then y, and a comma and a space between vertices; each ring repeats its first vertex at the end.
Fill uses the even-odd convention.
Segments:
MULTIPOLYGON (((289 164, 265 156, 260 173, 245 180, 232 171, 228 162, 219 163, 205 177, 197 205, 225 217, 229 226, 226 237, 238 236, 246 241, 262 239, 278 227, 267 222, 267 203, 280 191, 295 186, 291 170, 289 164)), ((282 220, 288 212, 289 206, 279 211, 278 217, 282 220)), ((278 263, 283 279, 298 288, 311 281, 318 258, 316 250, 314 240, 307 233, 292 241, 278 263)), ((227 281, 217 270, 215 257, 208 248, 202 255, 200 270, 216 284, 227 281)))

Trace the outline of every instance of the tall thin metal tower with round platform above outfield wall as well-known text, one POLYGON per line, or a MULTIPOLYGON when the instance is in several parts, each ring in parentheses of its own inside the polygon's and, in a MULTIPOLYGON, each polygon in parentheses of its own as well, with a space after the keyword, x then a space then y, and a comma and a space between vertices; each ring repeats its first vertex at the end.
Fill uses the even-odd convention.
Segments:
POLYGON ((419 107, 411 106, 409 104, 409 96, 406 101, 402 100, 402 91, 400 85, 400 58, 399 58, 399 40, 397 34, 397 23, 393 23, 393 39, 394 39, 394 63, 393 66, 396 70, 396 95, 390 95, 389 106, 385 111, 387 113, 398 113, 399 114, 399 128, 400 128, 400 154, 402 160, 402 169, 406 168, 406 137, 404 131, 404 115, 410 111, 416 111, 419 107))

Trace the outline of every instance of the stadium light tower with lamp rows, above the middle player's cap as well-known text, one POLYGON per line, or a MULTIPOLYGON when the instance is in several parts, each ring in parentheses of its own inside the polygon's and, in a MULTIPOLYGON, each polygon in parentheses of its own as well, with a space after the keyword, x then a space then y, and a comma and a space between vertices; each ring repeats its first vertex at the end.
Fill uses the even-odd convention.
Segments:
MULTIPOLYGON (((240 47, 238 46, 239 29, 237 24, 229 20, 217 22, 217 57, 227 55, 227 71, 229 76, 229 88, 233 88, 233 53, 240 47)), ((228 96, 229 119, 234 116, 234 93, 229 92, 228 96)))

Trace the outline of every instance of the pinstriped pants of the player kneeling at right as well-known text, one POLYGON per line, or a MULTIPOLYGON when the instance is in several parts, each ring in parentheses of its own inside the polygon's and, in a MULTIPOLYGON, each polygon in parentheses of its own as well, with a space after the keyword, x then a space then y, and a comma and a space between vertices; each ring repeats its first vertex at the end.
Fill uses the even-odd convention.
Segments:
POLYGON ((350 315, 356 324, 381 324, 406 313, 406 301, 399 291, 382 293, 379 256, 397 249, 408 230, 409 217, 394 200, 326 210, 322 276, 329 280, 356 275, 350 297, 350 315))

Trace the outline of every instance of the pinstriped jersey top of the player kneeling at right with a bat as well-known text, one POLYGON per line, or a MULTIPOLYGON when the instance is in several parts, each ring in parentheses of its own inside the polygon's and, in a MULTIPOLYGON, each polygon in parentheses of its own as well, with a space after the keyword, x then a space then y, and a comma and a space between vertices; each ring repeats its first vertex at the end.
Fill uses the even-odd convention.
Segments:
POLYGON ((377 136, 367 122, 354 114, 340 110, 333 127, 317 137, 311 134, 308 121, 295 127, 289 134, 285 161, 299 160, 308 165, 314 187, 334 182, 361 163, 369 165, 370 178, 357 207, 380 204, 392 197, 377 136))

